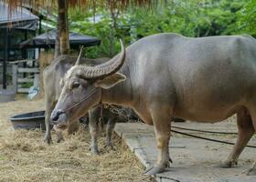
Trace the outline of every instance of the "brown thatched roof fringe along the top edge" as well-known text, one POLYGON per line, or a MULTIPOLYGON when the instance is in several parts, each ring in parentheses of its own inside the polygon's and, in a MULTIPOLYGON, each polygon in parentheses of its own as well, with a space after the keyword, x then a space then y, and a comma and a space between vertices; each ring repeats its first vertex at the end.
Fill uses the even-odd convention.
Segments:
MULTIPOLYGON (((0 0, 9 5, 11 10, 15 10, 17 6, 30 6, 33 9, 38 7, 54 8, 57 6, 57 0, 0 0)), ((151 5, 157 0, 67 0, 70 7, 95 8, 97 6, 108 8, 125 8, 132 6, 151 5)))

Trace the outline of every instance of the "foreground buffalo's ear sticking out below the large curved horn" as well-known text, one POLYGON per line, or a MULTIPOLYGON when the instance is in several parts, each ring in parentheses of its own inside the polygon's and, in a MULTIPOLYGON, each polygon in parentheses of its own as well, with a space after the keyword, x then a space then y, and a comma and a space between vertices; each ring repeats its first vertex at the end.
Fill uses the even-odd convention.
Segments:
POLYGON ((120 73, 115 73, 111 76, 106 76, 101 80, 97 80, 94 83, 94 86, 108 89, 108 88, 111 88, 112 86, 117 85, 120 82, 123 82, 124 80, 126 80, 126 76, 120 73))

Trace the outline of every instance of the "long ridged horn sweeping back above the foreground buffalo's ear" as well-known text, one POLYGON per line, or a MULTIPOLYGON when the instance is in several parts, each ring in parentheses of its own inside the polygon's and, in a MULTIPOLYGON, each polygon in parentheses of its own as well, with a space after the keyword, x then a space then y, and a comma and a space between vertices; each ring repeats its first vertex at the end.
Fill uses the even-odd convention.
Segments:
POLYGON ((111 76, 112 74, 117 72, 121 68, 121 66, 123 66, 125 60, 125 47, 121 39, 120 44, 122 47, 121 54, 119 54, 118 56, 114 56, 110 61, 103 63, 99 66, 82 66, 80 70, 80 76, 84 77, 85 79, 102 78, 105 76, 111 76))

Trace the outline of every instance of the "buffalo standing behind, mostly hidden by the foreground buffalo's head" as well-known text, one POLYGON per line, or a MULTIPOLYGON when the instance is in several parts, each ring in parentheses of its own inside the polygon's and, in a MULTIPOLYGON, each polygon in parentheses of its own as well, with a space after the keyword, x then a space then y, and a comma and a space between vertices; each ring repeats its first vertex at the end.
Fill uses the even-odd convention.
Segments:
MULTIPOLYGON (((59 99, 59 95, 61 92, 61 86, 60 86, 61 79, 63 76, 65 76, 69 68, 71 66, 74 66, 76 60, 77 60, 77 57, 74 57, 74 56, 59 56, 56 60, 54 60, 54 62, 50 66, 44 69, 43 80, 44 80, 44 88, 45 88, 44 92, 45 92, 45 101, 46 101, 45 123, 47 128, 45 141, 48 144, 51 142, 49 116, 59 99)), ((80 60, 82 64, 86 63, 88 65, 94 65, 94 64, 98 65, 106 62, 107 60, 109 60, 109 58, 107 57, 102 57, 97 59, 81 58, 80 60)), ((93 110, 97 110, 97 108, 94 108, 93 110)), ((92 113, 94 115, 100 115, 98 112, 93 110, 92 110, 92 113)), ((107 111, 104 111, 104 113, 108 114, 110 118, 107 126, 107 133, 112 133, 112 126, 114 126, 112 122, 115 123, 117 116, 111 115, 107 111)), ((96 118, 96 117, 98 118, 99 116, 93 116, 92 118, 96 118)), ((90 122, 91 131, 97 130, 97 128, 93 128, 95 126, 94 123, 96 122, 97 121, 94 119, 91 120, 90 122)), ((68 128, 69 134, 72 134, 74 131, 78 130, 79 119, 69 122, 69 126, 67 126, 67 128, 68 128)), ((61 130, 63 130, 63 128, 59 128, 58 126, 55 126, 55 130, 57 131, 57 141, 59 142, 61 139, 63 139, 63 136, 61 133, 61 130)), ((94 134, 96 135, 95 132, 93 133, 91 132, 91 138, 96 138, 96 136, 92 136, 94 134)), ((112 138, 112 137, 111 136, 107 137, 107 140, 111 141, 109 138, 112 138)), ((93 144, 92 145, 93 148, 97 148, 96 142, 91 141, 91 143, 93 144)), ((109 142, 109 145, 111 145, 110 142, 109 142)), ((96 153, 96 150, 92 150, 92 152, 96 153)))

